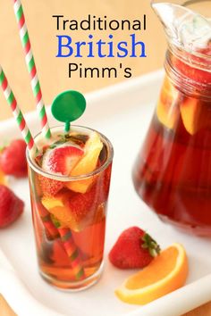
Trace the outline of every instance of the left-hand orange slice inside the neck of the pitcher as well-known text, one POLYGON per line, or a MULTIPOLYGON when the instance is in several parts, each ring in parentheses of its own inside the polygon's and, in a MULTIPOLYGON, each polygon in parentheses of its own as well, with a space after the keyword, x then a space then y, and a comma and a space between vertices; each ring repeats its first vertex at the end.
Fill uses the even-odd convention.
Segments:
POLYGON ((180 116, 178 108, 179 92, 173 87, 169 79, 165 77, 160 98, 156 106, 157 119, 168 129, 173 129, 180 116))

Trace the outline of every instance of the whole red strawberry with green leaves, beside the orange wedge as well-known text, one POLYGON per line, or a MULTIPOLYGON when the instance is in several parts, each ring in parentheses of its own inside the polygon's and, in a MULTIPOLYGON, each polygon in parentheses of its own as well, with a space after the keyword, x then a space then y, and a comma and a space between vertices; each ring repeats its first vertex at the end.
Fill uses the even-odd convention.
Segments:
POLYGON ((131 227, 117 239, 109 260, 120 269, 144 268, 159 253, 160 247, 152 237, 138 227, 131 227))

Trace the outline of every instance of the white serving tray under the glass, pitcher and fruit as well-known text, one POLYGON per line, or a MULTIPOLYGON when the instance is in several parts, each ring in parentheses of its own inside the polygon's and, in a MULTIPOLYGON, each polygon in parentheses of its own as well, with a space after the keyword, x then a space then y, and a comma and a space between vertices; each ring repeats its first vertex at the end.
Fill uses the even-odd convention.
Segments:
MULTIPOLYGON (((19 316, 179 316, 211 300, 211 239, 186 235, 158 220, 140 201, 131 181, 131 168, 147 132, 162 78, 163 72, 156 71, 88 94, 87 111, 77 121, 98 129, 114 145, 105 270, 94 287, 79 293, 65 293, 39 277, 28 181, 10 179, 11 187, 26 206, 20 220, 0 231, 0 293, 19 316), (117 270, 107 260, 109 249, 122 229, 133 225, 147 229, 162 248, 180 242, 190 259, 187 285, 145 306, 124 304, 115 297, 114 289, 133 271, 117 270)), ((36 112, 26 118, 32 132, 38 132, 36 112)), ((55 125, 50 114, 49 122, 55 125)), ((1 139, 18 136, 20 132, 13 119, 1 122, 1 139)))

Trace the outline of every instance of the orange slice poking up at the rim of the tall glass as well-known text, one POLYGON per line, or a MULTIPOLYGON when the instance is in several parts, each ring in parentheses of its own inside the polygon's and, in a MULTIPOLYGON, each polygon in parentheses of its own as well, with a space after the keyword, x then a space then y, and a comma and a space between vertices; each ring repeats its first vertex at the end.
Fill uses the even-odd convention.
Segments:
MULTIPOLYGON (((97 167, 97 161, 99 154, 103 148, 103 143, 97 134, 92 132, 84 147, 84 156, 80 159, 80 162, 72 169, 71 176, 80 176, 92 172, 97 167)), ((95 177, 89 179, 81 179, 78 181, 71 181, 66 184, 66 187, 74 192, 86 193, 90 185, 95 180, 95 177)))

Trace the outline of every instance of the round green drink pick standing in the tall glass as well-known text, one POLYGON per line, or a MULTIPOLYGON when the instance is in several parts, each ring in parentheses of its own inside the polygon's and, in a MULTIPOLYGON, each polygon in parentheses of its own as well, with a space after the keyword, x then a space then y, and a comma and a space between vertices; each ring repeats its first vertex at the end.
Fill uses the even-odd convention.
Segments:
POLYGON ((86 109, 86 99, 78 91, 67 90, 55 97, 51 112, 57 121, 63 121, 64 131, 69 132, 71 122, 80 118, 86 109))

